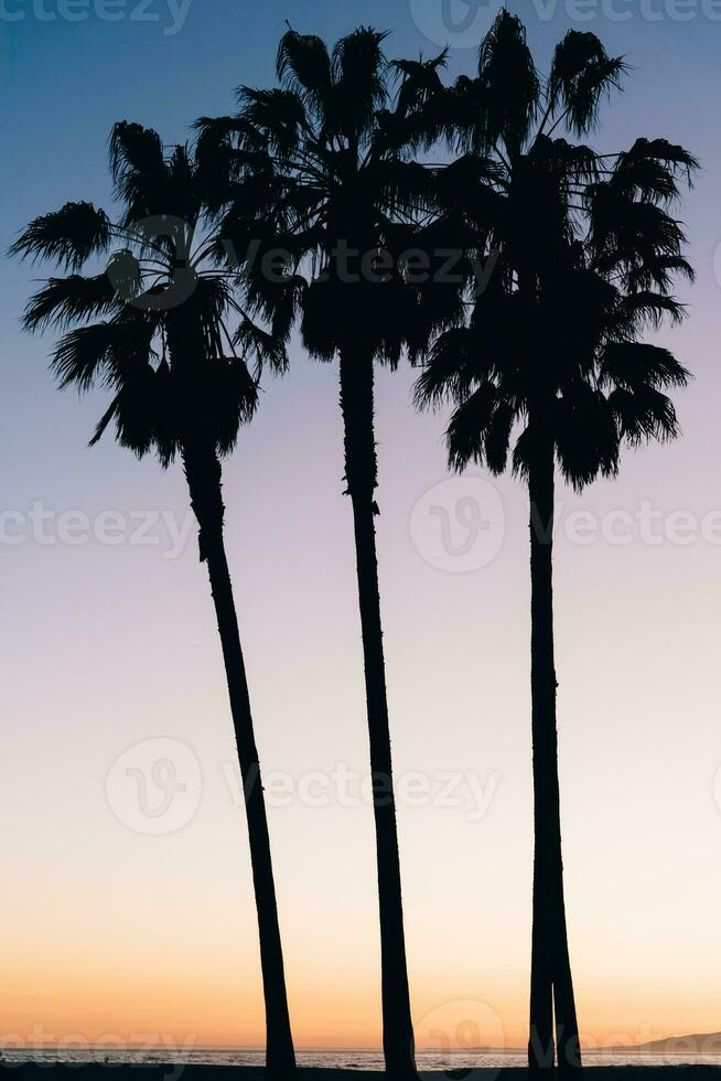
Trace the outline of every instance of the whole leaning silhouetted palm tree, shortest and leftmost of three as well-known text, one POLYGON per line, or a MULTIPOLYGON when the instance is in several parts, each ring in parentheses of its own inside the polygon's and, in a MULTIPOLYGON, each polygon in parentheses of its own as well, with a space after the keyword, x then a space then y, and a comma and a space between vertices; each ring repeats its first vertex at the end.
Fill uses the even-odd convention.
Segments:
POLYGON ((294 1075, 283 956, 268 823, 248 683, 225 553, 220 459, 252 417, 256 354, 282 368, 282 335, 250 322, 224 275, 204 261, 204 201, 217 161, 185 147, 165 152, 159 136, 116 125, 110 162, 117 217, 89 203, 67 203, 33 221, 13 245, 21 256, 63 270, 29 301, 24 324, 63 334, 52 354, 60 385, 112 393, 92 443, 115 424, 120 446, 154 451, 166 468, 180 457, 207 566, 230 697, 250 839, 267 1020, 267 1064, 294 1075), (108 256, 107 269, 80 271, 108 256), (240 349, 240 353, 236 351, 240 349))

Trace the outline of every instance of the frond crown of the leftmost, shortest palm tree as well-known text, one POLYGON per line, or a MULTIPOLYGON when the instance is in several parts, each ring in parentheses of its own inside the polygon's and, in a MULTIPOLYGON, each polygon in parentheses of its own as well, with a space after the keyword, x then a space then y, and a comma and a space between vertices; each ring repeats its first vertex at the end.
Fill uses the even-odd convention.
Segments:
POLYGON ((166 154, 157 132, 121 122, 110 159, 121 204, 115 218, 67 203, 13 245, 66 271, 31 298, 24 324, 64 331, 52 357, 62 386, 111 390, 93 442, 115 422, 121 446, 138 456, 154 450, 163 465, 191 436, 226 454, 256 409, 260 363, 282 368, 282 342, 245 315, 233 282, 207 260, 207 157, 186 147, 166 154), (87 272, 99 257, 106 268, 87 272))

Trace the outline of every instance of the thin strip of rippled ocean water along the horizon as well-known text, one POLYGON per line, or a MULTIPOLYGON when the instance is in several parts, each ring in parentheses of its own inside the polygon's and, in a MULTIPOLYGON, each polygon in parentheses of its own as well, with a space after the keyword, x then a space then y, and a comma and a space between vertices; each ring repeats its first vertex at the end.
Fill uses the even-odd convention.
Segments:
MULTIPOLYGON (((74 1066, 106 1063, 136 1066, 262 1066, 265 1055, 261 1050, 238 1050, 232 1048, 109 1048, 109 1047, 64 1047, 64 1048, 4 1048, 2 1062, 7 1066, 21 1062, 51 1064, 62 1062, 74 1066)), ((449 1073, 453 1081, 472 1081, 474 1069, 502 1069, 503 1067, 524 1067, 526 1056, 521 1051, 419 1051, 417 1056, 419 1073, 449 1073)), ((588 1051, 583 1057, 587 1066, 721 1066, 721 1053, 674 1053, 674 1055, 623 1055, 588 1051)), ((383 1070, 383 1056, 378 1051, 299 1051, 298 1064, 309 1068, 357 1070, 383 1070)), ((180 1069, 174 1072, 180 1075, 180 1069)))

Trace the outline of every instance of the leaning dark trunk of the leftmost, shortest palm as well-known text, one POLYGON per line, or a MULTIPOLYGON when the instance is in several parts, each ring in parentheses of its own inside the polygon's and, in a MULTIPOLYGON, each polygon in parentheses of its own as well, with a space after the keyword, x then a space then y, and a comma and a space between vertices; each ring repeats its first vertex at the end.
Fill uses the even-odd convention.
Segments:
POLYGON ((233 586, 223 540, 225 507, 220 462, 212 448, 186 445, 183 450, 183 465, 191 504, 200 526, 201 560, 207 564, 211 579, 248 818, 266 1003, 267 1071, 269 1077, 287 1081, 295 1075, 295 1055, 288 1010, 266 802, 233 586))

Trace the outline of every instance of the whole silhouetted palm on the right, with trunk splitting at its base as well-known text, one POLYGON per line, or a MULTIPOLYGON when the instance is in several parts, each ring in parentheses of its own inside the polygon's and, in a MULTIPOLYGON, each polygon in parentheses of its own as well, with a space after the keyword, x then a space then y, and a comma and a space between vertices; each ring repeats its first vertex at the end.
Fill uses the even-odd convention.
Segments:
POLYGON ((669 214, 695 160, 661 139, 599 154, 567 141, 596 121, 620 57, 571 31, 542 81, 518 19, 503 11, 482 43, 478 76, 433 96, 427 140, 462 157, 439 175, 480 251, 489 287, 467 324, 441 335, 417 385, 420 405, 450 400, 451 467, 513 469, 530 496, 534 899, 529 1066, 581 1066, 561 858, 552 609, 555 470, 581 489, 618 469, 624 442, 677 434, 669 387, 688 373, 646 329, 682 308, 675 272, 691 277, 669 214))

